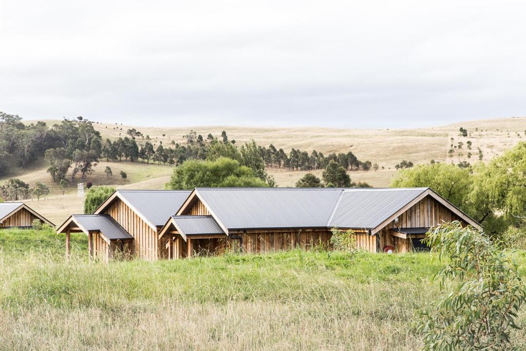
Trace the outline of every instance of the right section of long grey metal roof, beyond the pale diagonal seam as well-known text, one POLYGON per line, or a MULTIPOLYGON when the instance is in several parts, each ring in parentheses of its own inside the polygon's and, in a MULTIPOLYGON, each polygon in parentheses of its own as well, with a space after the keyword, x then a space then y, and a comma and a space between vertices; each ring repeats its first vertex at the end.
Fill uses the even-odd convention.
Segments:
POLYGON ((345 189, 328 226, 375 228, 427 189, 345 189))

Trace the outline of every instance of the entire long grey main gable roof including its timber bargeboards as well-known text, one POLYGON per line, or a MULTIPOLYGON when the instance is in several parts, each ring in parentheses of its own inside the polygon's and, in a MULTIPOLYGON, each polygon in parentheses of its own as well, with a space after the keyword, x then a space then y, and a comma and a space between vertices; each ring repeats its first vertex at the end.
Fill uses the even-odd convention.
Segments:
POLYGON ((353 228, 375 234, 430 195, 467 223, 472 218, 430 188, 195 188, 177 214, 197 197, 217 224, 229 230, 353 228))

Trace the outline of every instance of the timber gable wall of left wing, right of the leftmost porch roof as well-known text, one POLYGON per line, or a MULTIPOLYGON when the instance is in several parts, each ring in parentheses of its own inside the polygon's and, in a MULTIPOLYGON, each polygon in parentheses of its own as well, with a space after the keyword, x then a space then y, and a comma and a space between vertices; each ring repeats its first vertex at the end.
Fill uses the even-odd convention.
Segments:
POLYGON ((135 256, 142 259, 156 260, 158 250, 157 230, 152 229, 121 199, 106 209, 108 215, 112 216, 126 232, 134 237, 135 256))

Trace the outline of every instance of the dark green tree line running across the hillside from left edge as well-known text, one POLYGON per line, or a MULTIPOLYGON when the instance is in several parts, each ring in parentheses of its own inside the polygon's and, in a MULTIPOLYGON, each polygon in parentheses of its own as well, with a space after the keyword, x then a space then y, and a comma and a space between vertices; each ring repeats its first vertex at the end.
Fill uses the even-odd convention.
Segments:
POLYGON ((352 152, 325 156, 316 150, 309 154, 292 148, 287 154, 282 148, 278 149, 272 144, 260 146, 253 140, 238 147, 225 131, 219 137, 208 134, 206 138, 190 131, 184 135, 185 145, 174 141, 163 145, 162 141, 157 143, 136 129, 128 129, 126 134, 126 137, 103 142, 93 123, 80 116, 71 120, 64 118, 62 122, 49 127, 45 122, 25 125, 18 115, 1 112, 0 175, 5 173, 8 155, 16 156, 21 167, 28 167, 43 156, 50 164, 47 172, 56 183, 63 180, 73 183, 77 176, 86 178, 99 159, 177 166, 188 160, 215 161, 227 157, 250 168, 257 178, 270 186, 275 183, 266 173, 266 167, 309 171, 325 169, 335 162, 350 171, 378 169, 378 165, 372 165, 370 161, 362 162, 352 152))

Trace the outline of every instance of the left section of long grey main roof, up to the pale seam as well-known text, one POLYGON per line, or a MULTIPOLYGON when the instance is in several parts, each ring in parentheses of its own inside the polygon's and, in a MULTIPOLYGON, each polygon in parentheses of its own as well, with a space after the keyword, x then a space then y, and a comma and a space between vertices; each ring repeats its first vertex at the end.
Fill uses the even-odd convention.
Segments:
POLYGON ((196 188, 228 229, 326 227, 342 189, 196 188))

